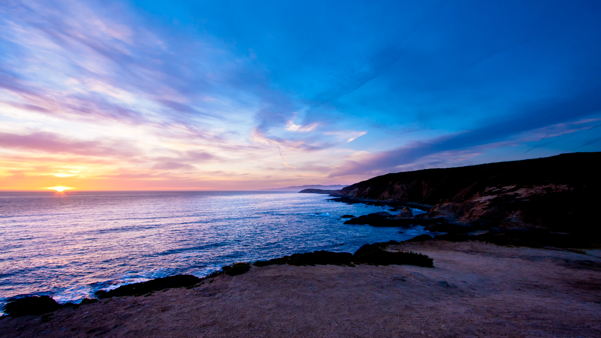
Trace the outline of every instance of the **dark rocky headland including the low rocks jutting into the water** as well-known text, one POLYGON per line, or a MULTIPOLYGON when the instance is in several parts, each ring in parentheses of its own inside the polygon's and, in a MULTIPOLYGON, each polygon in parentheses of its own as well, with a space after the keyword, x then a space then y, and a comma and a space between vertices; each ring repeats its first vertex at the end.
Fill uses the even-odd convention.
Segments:
MULTIPOLYGON (((361 215, 345 224, 424 226, 446 239, 540 247, 599 247, 601 153, 386 174, 331 194, 333 201, 412 207, 425 214, 361 215)), ((322 192, 323 193, 323 192, 322 192)))

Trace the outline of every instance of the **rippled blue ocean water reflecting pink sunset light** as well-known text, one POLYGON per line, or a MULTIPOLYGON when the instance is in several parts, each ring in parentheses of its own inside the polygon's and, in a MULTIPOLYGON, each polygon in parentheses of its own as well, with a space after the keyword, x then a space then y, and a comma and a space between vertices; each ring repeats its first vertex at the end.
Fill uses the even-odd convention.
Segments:
POLYGON ((314 250, 352 253, 365 243, 425 233, 419 226, 343 224, 341 215, 387 208, 330 198, 279 191, 0 192, 0 305, 23 295, 77 303, 99 289, 150 278, 201 277, 234 262, 314 250))

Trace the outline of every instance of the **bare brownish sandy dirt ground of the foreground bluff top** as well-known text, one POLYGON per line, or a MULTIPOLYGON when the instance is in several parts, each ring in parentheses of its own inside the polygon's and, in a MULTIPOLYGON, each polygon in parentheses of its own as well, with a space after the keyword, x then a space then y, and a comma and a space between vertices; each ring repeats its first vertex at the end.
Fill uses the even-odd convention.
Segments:
POLYGON ((426 253, 435 268, 253 266, 193 289, 5 317, 0 337, 601 336, 599 257, 480 242, 388 249, 426 253))

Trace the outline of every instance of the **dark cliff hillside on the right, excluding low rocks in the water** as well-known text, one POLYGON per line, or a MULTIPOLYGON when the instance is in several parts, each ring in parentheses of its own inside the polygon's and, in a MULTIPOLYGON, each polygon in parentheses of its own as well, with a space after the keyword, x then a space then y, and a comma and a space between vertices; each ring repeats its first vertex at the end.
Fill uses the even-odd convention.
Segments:
POLYGON ((600 200, 599 164, 601 152, 407 171, 355 183, 337 194, 433 205, 424 221, 447 222, 440 229, 430 227, 433 231, 449 232, 451 223, 469 230, 599 233, 599 218, 593 212, 600 200))

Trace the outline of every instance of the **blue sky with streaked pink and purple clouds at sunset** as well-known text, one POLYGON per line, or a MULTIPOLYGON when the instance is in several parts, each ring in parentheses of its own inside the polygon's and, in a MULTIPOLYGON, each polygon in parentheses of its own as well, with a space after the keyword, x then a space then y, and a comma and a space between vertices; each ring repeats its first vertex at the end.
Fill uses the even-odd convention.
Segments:
POLYGON ((0 3, 0 189, 352 184, 600 127, 601 1, 0 3))

